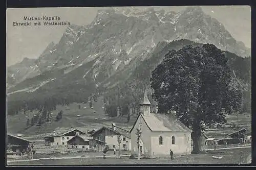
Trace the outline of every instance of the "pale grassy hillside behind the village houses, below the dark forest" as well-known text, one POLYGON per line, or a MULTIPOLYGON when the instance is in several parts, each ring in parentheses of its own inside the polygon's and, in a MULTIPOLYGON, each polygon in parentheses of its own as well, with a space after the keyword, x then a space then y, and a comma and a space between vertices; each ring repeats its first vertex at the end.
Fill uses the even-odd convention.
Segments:
POLYGON ((104 115, 103 102, 101 99, 99 99, 98 102, 93 102, 93 109, 89 107, 88 103, 73 103, 67 107, 59 105, 56 110, 52 111, 53 120, 60 110, 63 111, 63 116, 59 122, 52 121, 51 123, 46 123, 41 127, 33 126, 27 130, 25 129, 27 119, 31 119, 37 111, 27 111, 26 115, 19 113, 17 115, 9 116, 7 118, 8 133, 22 133, 24 136, 36 139, 37 136, 40 137, 40 134, 52 133, 56 129, 60 128, 65 130, 65 128, 76 127, 83 131, 87 131, 98 129, 102 125, 111 126, 111 123, 116 123, 117 126, 132 127, 136 119, 136 117, 131 117, 130 122, 126 123, 126 117, 109 118, 107 115, 104 115), (78 105, 81 106, 80 109, 78 109, 78 105))

